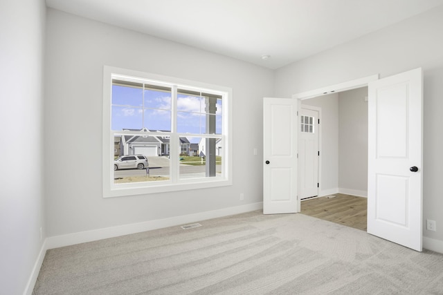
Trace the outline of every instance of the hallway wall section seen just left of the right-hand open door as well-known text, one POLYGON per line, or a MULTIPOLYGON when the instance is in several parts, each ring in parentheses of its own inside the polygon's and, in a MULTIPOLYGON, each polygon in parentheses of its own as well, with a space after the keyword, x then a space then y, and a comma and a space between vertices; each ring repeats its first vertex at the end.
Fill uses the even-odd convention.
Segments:
POLYGON ((368 87, 338 93, 338 187, 368 196, 368 87))

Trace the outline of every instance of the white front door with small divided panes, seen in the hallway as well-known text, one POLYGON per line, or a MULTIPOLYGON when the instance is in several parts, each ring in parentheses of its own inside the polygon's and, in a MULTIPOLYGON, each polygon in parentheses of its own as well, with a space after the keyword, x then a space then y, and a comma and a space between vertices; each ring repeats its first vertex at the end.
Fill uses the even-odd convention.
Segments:
POLYGON ((298 119, 298 196, 300 200, 318 196, 318 113, 301 106, 298 119))

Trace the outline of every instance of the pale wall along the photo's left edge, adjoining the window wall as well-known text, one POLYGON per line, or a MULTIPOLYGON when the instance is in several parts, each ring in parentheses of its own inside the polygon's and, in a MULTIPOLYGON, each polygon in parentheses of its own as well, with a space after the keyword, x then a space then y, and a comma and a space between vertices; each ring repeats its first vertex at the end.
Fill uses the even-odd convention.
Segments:
POLYGON ((1 294, 32 291, 29 279, 43 245, 45 13, 42 0, 0 1, 1 294))

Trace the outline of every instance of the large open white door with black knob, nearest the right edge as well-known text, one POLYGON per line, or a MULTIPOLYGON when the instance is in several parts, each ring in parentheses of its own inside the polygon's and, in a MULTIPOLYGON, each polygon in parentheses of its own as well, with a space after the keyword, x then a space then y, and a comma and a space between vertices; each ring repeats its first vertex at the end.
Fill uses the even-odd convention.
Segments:
POLYGON ((369 83, 368 233, 422 251, 422 69, 369 83))

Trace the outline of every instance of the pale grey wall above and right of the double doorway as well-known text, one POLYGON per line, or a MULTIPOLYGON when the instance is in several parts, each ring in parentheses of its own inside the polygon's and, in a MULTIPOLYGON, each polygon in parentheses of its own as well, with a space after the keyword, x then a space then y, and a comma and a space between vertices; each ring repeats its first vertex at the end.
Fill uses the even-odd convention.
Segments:
MULTIPOLYGON (((424 236, 443 242, 443 6, 389 28, 303 59, 275 71, 275 95, 290 97, 379 73, 388 77, 413 68, 424 70, 424 219, 437 232, 424 236), (439 226, 440 225, 440 226, 439 226)), ((426 222, 424 222, 426 224, 426 222)))

